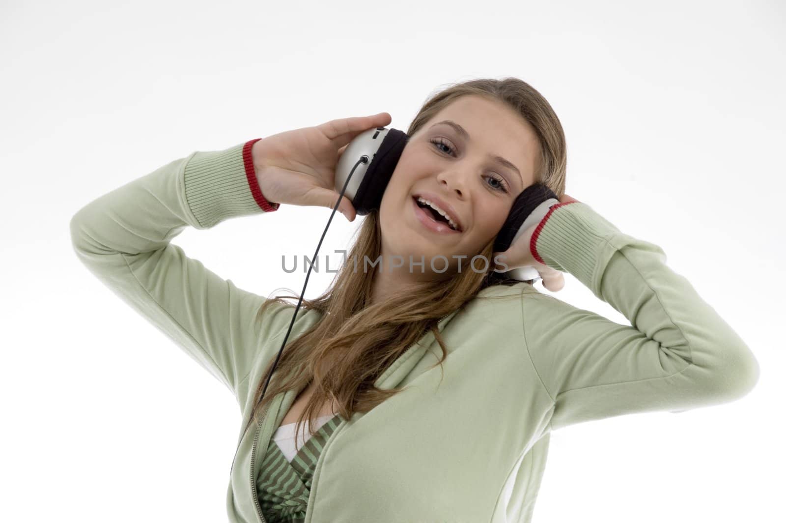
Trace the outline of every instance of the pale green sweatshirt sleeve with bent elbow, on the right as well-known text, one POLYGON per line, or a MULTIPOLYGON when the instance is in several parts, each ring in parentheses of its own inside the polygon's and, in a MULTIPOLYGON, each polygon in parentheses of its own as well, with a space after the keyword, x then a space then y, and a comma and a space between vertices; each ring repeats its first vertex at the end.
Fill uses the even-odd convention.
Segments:
POLYGON ((536 260, 569 272, 630 326, 542 293, 523 295, 529 357, 554 402, 552 429, 620 414, 686 411, 754 388, 755 356, 666 264, 589 205, 554 205, 531 239, 536 260))

